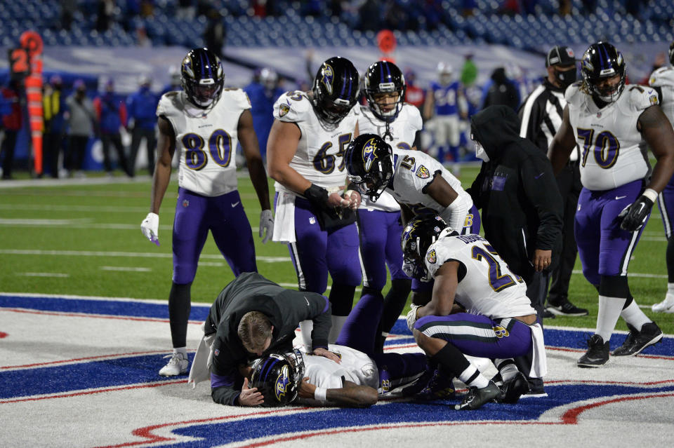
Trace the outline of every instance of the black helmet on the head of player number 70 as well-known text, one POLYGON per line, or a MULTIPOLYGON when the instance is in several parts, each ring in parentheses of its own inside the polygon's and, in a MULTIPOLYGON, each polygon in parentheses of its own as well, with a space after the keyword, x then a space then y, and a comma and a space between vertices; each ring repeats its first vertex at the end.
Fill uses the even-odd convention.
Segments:
POLYGON ((612 103, 625 88, 626 70, 623 55, 607 42, 597 42, 583 54, 581 60, 583 86, 595 100, 612 103))

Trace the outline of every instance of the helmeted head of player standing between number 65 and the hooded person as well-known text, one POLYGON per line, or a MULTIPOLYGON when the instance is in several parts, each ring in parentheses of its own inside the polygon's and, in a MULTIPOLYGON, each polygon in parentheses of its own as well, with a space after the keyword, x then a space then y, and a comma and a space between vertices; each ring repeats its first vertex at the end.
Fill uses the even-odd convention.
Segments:
POLYGON ((370 110, 381 121, 397 118, 405 98, 405 77, 392 62, 375 62, 365 74, 365 97, 370 110))

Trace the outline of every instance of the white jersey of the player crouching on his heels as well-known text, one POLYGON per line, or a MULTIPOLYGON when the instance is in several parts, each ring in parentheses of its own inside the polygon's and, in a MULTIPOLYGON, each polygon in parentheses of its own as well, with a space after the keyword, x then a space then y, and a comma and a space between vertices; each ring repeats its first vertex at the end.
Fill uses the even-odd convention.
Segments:
POLYGON ((437 241, 428 247, 426 269, 431 278, 445 262, 456 261, 459 282, 455 300, 468 313, 488 318, 514 318, 536 314, 527 297, 527 285, 496 253, 489 241, 479 235, 450 235, 444 229, 437 241), (463 275, 463 278, 461 278, 463 275))

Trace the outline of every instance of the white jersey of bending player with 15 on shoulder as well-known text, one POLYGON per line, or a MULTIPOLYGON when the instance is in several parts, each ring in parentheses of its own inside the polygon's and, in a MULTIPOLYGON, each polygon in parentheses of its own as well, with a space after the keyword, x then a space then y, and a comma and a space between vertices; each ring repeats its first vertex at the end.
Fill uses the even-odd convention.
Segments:
MULTIPOLYGON (((445 209, 443 205, 437 203, 424 192, 425 186, 432 182, 436 172, 440 172, 451 188, 463 198, 463 201, 468 205, 467 210, 470 211, 470 208, 473 207, 473 199, 470 198, 470 194, 463 190, 461 182, 449 170, 445 169, 442 163, 424 152, 393 148, 393 172, 393 186, 392 188, 388 186, 386 191, 399 203, 409 205, 416 214, 430 208, 442 215, 445 209)), ((459 231, 463 229, 465 215, 456 219, 452 218, 452 220, 459 223, 452 226, 457 226, 459 231)))

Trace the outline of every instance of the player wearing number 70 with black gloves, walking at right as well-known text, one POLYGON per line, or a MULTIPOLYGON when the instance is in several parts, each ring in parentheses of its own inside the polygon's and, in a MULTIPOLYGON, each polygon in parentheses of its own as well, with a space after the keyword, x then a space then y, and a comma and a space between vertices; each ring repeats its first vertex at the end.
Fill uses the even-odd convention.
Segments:
POLYGON ((559 172, 576 144, 582 151, 575 234, 583 275, 599 292, 599 313, 578 365, 600 367, 609 360, 619 317, 630 336, 614 356, 636 355, 662 338, 630 294, 627 268, 651 207, 674 172, 674 132, 653 88, 625 84, 623 55, 610 43, 593 43, 581 72, 583 81, 565 93, 568 104, 548 155, 559 172), (657 159, 653 170, 647 146, 657 159))

